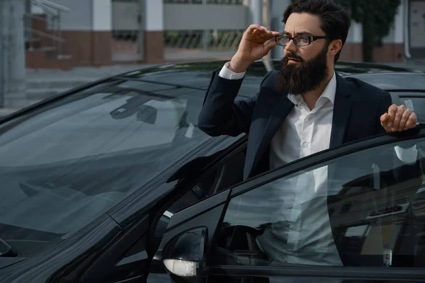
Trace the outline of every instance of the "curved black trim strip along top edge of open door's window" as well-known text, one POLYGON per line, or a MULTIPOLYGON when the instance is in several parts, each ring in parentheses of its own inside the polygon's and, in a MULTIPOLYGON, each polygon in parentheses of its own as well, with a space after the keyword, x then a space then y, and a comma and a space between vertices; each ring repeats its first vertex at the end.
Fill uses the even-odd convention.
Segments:
POLYGON ((317 154, 312 154, 304 158, 300 158, 291 163, 280 166, 272 171, 266 171, 259 175, 249 178, 244 183, 239 183, 234 187, 231 187, 231 197, 236 197, 241 195, 244 192, 254 190, 256 187, 264 185, 266 183, 273 182, 279 178, 284 178, 287 175, 296 173, 297 171, 316 166, 320 163, 330 161, 334 158, 339 158, 341 156, 346 156, 357 151, 362 151, 364 149, 370 149, 375 146, 381 146, 385 144, 391 144, 394 141, 404 141, 404 140, 414 140, 425 137, 425 127, 419 126, 416 129, 411 129, 406 132, 397 132, 397 133, 388 133, 379 135, 376 137, 371 137, 368 139, 363 139, 361 141, 354 141, 349 144, 343 144, 334 148, 327 149, 325 151, 320 151, 317 154))

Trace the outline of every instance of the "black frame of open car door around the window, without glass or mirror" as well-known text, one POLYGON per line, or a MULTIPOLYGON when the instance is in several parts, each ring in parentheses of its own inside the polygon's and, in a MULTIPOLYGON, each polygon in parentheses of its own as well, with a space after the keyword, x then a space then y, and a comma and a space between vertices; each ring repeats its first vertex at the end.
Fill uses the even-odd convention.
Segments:
MULTIPOLYGON (((208 229, 208 242, 210 247, 214 245, 216 234, 222 219, 224 219, 225 212, 229 200, 237 195, 240 195, 249 190, 270 183, 278 178, 284 178, 287 175, 302 171, 306 168, 316 166, 320 163, 327 162, 334 158, 339 158, 347 154, 362 151, 365 149, 374 148, 377 146, 391 144, 395 141, 414 140, 425 137, 425 127, 416 127, 404 132, 397 132, 392 134, 382 134, 379 136, 363 139, 343 146, 338 146, 333 149, 319 152, 312 156, 289 163, 286 166, 276 168, 273 171, 268 171, 254 178, 246 180, 244 183, 239 183, 234 187, 229 187, 227 190, 220 192, 218 195, 209 197, 202 202, 194 204, 183 211, 174 214, 171 217, 169 226, 166 229, 162 243, 159 250, 154 257, 154 260, 162 260, 162 249, 175 236, 189 231, 200 226, 206 226, 208 229), (215 219, 214 219, 215 217, 215 219), (211 231, 212 230, 212 231, 211 231)), ((208 254, 208 251, 207 251, 208 254)), ((207 258, 208 260, 208 258, 207 258)), ((338 279, 407 279, 406 271, 408 270, 409 279, 424 280, 425 269, 419 268, 398 268, 392 267, 391 269, 382 268, 381 270, 373 267, 322 267, 322 266, 308 266, 309 274, 305 274, 305 265, 290 265, 290 268, 278 267, 255 267, 255 266, 210 266, 208 267, 209 275, 234 275, 234 276, 303 276, 303 277, 324 277, 331 275, 332 278, 338 279)))

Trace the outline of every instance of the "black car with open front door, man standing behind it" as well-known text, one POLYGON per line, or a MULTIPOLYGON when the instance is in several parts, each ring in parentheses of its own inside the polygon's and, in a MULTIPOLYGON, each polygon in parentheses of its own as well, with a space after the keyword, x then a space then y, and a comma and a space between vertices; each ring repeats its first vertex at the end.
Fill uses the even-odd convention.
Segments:
MULTIPOLYGON (((425 127, 242 182, 246 136, 197 127, 212 70, 224 63, 132 71, 1 118, 0 282, 425 281, 425 171, 388 185, 381 175, 404 165, 376 166, 400 154, 395 146, 414 146, 425 168, 425 127), (374 165, 356 163, 365 160, 374 165), (256 237, 276 225, 276 184, 336 162, 330 222, 341 258, 356 260, 270 260, 256 237)), ((425 120, 423 72, 360 63, 336 71, 389 91, 425 120)), ((254 96, 264 74, 253 64, 238 98, 254 96)))

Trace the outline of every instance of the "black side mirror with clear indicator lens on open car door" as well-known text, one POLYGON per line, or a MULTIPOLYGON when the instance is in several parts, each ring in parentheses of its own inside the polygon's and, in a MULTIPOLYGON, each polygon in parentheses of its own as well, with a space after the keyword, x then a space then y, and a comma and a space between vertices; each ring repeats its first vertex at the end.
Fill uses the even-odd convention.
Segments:
POLYGON ((174 282, 205 281, 205 247, 208 233, 205 227, 185 231, 172 238, 162 250, 162 261, 174 282))

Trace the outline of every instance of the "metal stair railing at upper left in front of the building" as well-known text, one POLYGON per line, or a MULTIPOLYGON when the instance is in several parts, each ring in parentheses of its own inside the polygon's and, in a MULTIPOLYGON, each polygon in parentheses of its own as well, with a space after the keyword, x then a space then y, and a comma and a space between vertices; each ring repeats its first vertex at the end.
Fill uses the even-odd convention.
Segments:
POLYGON ((29 21, 37 19, 38 21, 45 22, 46 27, 49 27, 52 33, 45 33, 44 31, 35 30, 31 26, 27 26, 25 33, 26 40, 29 40, 30 50, 33 50, 33 35, 38 35, 39 37, 45 37, 52 40, 52 47, 57 49, 57 59, 64 58, 65 56, 62 54, 62 44, 66 42, 66 40, 62 37, 62 13, 69 13, 71 10, 48 0, 31 0, 31 4, 42 8, 48 18, 36 16, 30 13, 30 11, 24 13, 24 16, 28 18, 29 21))

